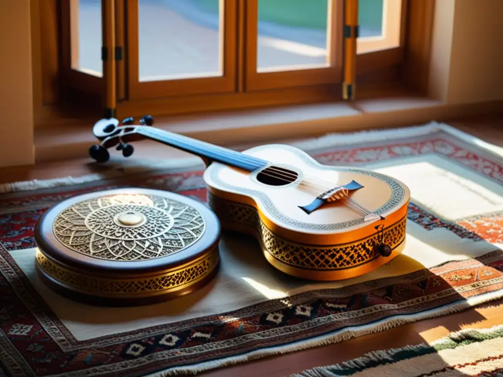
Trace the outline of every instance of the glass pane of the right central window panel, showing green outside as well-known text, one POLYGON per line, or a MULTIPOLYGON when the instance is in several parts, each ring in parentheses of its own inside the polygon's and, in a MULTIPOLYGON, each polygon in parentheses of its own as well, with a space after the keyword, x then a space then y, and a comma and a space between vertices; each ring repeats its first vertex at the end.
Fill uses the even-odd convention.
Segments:
POLYGON ((328 65, 327 0, 259 0, 257 70, 328 65))

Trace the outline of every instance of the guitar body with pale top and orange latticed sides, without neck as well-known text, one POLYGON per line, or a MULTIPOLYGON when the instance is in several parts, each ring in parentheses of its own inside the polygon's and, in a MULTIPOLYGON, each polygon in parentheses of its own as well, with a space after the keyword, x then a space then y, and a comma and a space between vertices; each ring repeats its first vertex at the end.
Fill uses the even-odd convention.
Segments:
POLYGON ((338 280, 374 270, 405 245, 410 192, 402 182, 371 170, 319 164, 288 145, 265 145, 243 152, 297 172, 298 179, 272 186, 245 171, 212 163, 204 173, 210 208, 223 229, 251 234, 267 260, 285 273, 313 280, 338 280), (362 214, 341 202, 325 203, 307 214, 309 204, 331 184, 352 180, 364 187, 351 197, 384 220, 364 222, 362 214), (383 226, 382 233, 376 226, 383 226), (391 255, 374 245, 384 240, 391 255))

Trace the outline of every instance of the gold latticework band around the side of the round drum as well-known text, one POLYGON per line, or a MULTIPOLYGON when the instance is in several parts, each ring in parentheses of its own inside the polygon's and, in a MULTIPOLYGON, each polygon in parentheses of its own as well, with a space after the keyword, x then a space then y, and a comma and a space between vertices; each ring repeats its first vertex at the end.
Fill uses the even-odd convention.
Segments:
POLYGON ((218 263, 218 249, 176 270, 159 273, 155 276, 123 279, 98 277, 70 270, 51 261, 38 250, 36 257, 38 266, 42 271, 78 292, 114 298, 120 297, 120 295, 138 295, 141 297, 148 293, 163 293, 205 278, 218 263))

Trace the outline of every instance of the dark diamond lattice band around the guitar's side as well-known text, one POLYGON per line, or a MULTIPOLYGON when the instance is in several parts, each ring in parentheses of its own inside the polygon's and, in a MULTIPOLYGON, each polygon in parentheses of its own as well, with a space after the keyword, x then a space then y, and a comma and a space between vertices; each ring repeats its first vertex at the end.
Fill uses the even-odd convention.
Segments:
MULTIPOLYGON (((217 216, 222 219, 222 223, 234 222, 258 230, 264 250, 283 263, 294 267, 334 271, 355 267, 380 256, 373 248, 380 238, 377 234, 351 244, 325 247, 302 245, 284 240, 272 233, 260 220, 257 210, 253 207, 222 200, 211 193, 209 193, 208 202, 217 216)), ((384 230, 384 242, 392 249, 403 242, 406 224, 407 217, 404 217, 384 230)))

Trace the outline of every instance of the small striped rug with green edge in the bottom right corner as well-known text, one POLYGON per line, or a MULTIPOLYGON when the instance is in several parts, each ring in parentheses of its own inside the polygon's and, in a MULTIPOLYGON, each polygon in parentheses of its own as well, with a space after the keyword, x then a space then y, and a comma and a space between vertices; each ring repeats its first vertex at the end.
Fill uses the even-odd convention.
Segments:
POLYGON ((454 377, 503 375, 503 326, 461 330, 431 344, 371 352, 291 377, 454 377))

